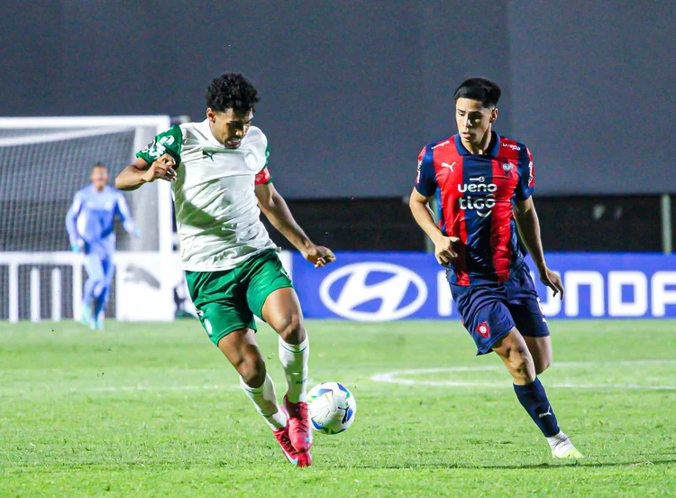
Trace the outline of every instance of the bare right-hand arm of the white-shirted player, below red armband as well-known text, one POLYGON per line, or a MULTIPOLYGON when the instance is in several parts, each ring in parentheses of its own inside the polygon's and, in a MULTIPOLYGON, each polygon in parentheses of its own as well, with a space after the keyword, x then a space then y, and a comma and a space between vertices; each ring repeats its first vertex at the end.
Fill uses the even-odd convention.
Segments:
POLYGON ((277 228, 281 235, 287 237, 288 242, 294 244, 294 247, 303 254, 307 261, 317 268, 335 261, 335 255, 331 249, 313 244, 303 229, 298 226, 286 201, 279 195, 272 183, 256 185, 256 198, 258 198, 260 210, 272 226, 277 228))

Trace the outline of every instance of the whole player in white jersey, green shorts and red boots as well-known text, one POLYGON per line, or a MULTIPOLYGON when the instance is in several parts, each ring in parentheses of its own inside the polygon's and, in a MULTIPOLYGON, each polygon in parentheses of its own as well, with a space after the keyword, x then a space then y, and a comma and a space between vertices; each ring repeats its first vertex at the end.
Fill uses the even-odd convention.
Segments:
POLYGON ((206 120, 159 134, 115 186, 132 190, 158 179, 171 182, 181 261, 202 326, 240 374, 242 389, 288 461, 309 466, 309 341, 296 291, 260 211, 316 267, 335 256, 310 241, 272 184, 268 140, 251 125, 258 101, 256 88, 241 74, 215 78, 206 92, 206 120), (288 383, 283 407, 256 344, 254 315, 279 334, 288 383))

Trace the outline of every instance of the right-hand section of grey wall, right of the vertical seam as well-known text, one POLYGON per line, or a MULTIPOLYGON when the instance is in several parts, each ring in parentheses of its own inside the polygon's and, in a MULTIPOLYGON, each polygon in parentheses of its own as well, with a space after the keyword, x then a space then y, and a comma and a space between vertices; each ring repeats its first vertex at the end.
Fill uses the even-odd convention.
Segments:
POLYGON ((666 0, 510 4, 513 129, 540 192, 676 192, 675 23, 666 0))

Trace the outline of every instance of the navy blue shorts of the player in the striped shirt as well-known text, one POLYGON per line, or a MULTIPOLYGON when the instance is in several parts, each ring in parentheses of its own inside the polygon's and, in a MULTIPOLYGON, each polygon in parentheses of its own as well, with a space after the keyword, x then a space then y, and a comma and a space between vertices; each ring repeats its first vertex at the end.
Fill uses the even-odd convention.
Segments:
POLYGON ((492 351, 513 328, 528 337, 547 337, 549 327, 526 265, 504 283, 451 285, 462 324, 477 345, 477 355, 492 351))

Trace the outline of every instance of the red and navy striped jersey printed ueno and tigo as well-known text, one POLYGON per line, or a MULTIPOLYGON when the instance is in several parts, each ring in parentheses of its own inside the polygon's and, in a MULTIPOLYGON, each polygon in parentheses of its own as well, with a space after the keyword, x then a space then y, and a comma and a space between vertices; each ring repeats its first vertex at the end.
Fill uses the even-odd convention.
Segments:
POLYGON ((512 208, 534 191, 533 157, 523 143, 492 133, 488 152, 472 154, 460 135, 430 143, 418 156, 416 190, 436 196, 439 228, 459 237, 448 280, 507 281, 524 262, 512 208))

